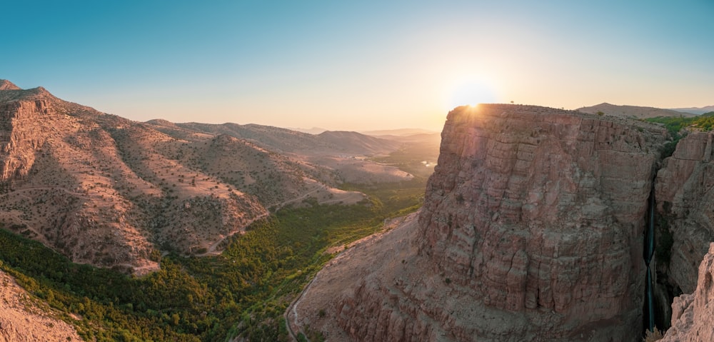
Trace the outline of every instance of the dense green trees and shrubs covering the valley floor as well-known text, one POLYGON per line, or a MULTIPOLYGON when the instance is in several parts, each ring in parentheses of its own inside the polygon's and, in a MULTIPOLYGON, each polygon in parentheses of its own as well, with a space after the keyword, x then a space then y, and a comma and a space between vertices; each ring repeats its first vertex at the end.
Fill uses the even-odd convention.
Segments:
MULTIPOLYGON (((0 268, 96 341, 284 341, 288 304, 341 246, 421 205, 426 178, 361 188, 354 206, 286 208, 253 223, 219 256, 169 255, 144 277, 71 263, 0 229, 0 268), (71 318, 70 314, 81 319, 71 318), (77 317, 77 316, 76 316, 77 317)), ((358 186, 348 186, 358 188, 358 186)))

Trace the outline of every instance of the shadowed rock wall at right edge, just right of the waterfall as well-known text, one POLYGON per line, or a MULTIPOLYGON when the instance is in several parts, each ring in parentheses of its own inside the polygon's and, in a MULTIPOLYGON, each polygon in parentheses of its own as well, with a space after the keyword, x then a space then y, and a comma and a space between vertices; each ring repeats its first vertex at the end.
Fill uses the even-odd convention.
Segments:
POLYGON ((660 255, 670 255, 658 261, 658 270, 683 293, 694 291, 699 262, 714 241, 713 139, 711 132, 688 134, 657 175, 657 209, 666 224, 661 228, 673 239, 669 246, 658 243, 665 250, 660 255))

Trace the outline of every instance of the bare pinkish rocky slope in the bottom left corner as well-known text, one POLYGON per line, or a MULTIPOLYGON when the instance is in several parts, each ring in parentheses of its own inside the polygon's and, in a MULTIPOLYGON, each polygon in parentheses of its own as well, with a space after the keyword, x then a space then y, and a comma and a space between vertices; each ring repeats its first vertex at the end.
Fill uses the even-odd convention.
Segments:
POLYGON ((84 341, 59 314, 0 271, 0 342, 84 341))

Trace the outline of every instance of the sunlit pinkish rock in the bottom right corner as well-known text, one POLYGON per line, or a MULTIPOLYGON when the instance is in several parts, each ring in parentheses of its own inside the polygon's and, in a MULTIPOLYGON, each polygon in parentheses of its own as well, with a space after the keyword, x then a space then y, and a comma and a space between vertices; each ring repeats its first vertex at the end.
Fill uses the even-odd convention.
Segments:
POLYGON ((683 294, 672 304, 672 327, 662 342, 714 341, 714 243, 699 266, 694 293, 683 294))

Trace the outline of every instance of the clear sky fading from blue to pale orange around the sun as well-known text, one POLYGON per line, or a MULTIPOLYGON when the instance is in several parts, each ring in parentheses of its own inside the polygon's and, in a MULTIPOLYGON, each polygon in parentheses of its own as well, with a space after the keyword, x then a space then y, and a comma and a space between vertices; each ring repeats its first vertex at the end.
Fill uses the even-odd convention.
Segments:
POLYGON ((0 79, 136 121, 441 131, 476 103, 714 105, 714 1, 3 1, 0 79))

